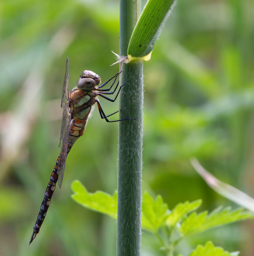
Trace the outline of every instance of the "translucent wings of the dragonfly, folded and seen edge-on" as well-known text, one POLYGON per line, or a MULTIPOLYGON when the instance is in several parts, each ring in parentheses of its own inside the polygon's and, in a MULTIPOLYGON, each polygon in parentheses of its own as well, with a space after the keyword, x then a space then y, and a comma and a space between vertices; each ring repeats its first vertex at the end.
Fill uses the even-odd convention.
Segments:
POLYGON ((63 84, 63 95, 61 101, 61 108, 63 108, 63 119, 60 134, 59 148, 61 148, 61 157, 58 162, 58 187, 61 188, 63 181, 64 168, 66 163, 68 151, 68 138, 70 136, 70 109, 69 109, 69 59, 66 60, 66 69, 63 84))

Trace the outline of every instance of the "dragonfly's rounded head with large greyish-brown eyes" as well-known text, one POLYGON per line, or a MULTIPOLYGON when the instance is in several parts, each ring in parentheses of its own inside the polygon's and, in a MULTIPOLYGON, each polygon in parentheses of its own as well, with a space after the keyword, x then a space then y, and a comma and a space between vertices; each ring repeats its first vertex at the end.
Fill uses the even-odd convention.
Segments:
POLYGON ((96 85, 101 83, 101 78, 95 74, 95 72, 90 70, 84 70, 80 79, 78 80, 78 89, 91 90, 95 88, 96 85))

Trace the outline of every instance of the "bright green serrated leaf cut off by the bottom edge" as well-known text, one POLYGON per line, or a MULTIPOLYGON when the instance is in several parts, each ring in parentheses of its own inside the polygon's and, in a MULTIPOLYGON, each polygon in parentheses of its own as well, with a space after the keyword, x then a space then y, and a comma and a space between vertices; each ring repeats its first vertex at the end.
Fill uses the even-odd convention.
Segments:
MULTIPOLYGON (((205 246, 198 245, 190 256, 231 256, 228 251, 221 247, 215 247, 212 242, 207 242, 205 246)), ((236 254, 235 254, 236 255, 236 254)))

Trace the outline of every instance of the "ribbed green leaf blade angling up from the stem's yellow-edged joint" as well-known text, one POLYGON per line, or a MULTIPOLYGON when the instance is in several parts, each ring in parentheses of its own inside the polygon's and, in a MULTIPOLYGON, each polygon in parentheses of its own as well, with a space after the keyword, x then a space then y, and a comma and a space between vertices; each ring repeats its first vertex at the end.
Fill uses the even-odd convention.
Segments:
POLYGON ((174 0, 148 0, 139 17, 128 46, 129 61, 149 60, 153 46, 167 19, 174 0))

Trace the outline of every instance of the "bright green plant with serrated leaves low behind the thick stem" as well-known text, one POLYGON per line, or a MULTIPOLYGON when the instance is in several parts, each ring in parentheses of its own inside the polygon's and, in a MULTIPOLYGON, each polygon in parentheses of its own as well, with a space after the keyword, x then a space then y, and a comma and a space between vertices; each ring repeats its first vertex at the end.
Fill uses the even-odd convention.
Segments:
MULTIPOLYGON (((79 180, 72 182, 72 191, 74 193, 72 194, 72 199, 78 204, 117 219, 118 202, 116 191, 112 196, 103 191, 89 193, 79 180)), ((186 201, 177 204, 173 210, 170 210, 168 205, 163 202, 161 195, 153 199, 145 191, 142 196, 141 228, 155 235, 161 243, 160 250, 164 251, 165 255, 173 256, 176 255, 174 251, 179 242, 188 236, 202 233, 210 228, 254 218, 252 212, 244 211, 243 208, 231 210, 231 207, 218 207, 209 214, 208 211, 201 213, 194 211, 201 204, 202 200, 196 200, 194 202, 186 201)), ((192 251, 192 253, 195 251, 192 251)), ((203 255, 205 256, 207 254, 203 255)))

